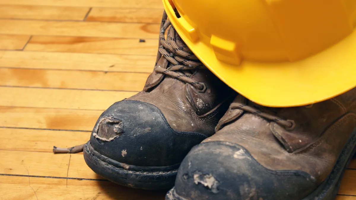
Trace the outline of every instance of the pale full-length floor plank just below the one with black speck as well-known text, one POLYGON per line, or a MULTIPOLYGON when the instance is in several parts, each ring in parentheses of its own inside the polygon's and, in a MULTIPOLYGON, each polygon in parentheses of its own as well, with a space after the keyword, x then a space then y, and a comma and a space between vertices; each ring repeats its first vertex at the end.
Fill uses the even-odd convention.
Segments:
POLYGON ((0 51, 0 67, 148 72, 156 56, 115 54, 0 51))

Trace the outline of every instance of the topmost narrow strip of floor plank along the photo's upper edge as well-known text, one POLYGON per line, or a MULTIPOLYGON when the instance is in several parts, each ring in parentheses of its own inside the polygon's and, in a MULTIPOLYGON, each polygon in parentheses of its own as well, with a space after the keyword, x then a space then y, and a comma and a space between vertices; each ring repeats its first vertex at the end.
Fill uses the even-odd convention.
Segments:
POLYGON ((0 0, 0 5, 46 5, 85 7, 126 7, 163 9, 161 0, 0 0))

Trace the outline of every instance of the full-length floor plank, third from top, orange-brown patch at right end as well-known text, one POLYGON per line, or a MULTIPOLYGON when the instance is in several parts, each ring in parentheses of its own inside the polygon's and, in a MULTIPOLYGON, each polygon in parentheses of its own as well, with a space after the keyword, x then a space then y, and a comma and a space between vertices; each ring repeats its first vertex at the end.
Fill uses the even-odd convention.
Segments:
POLYGON ((0 20, 0 34, 157 39, 159 24, 0 20))

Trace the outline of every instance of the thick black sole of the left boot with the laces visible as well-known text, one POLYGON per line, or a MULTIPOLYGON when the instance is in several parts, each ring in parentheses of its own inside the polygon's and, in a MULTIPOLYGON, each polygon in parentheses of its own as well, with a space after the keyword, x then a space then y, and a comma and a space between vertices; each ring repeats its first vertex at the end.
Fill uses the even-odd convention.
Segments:
POLYGON ((179 167, 179 164, 144 167, 120 163, 95 151, 90 141, 84 145, 83 154, 85 163, 96 174, 116 184, 137 189, 162 190, 172 188, 179 167))

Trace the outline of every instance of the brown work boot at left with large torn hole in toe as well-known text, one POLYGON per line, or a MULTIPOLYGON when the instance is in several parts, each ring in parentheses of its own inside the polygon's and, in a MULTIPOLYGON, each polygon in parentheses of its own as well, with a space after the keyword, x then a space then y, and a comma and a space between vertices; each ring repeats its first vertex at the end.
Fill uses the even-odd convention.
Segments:
POLYGON ((157 62, 143 91, 104 111, 84 146, 94 172, 132 188, 171 188, 180 162, 215 133, 236 96, 166 19, 164 14, 157 62))

